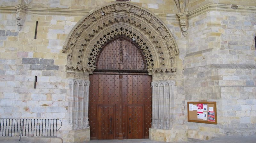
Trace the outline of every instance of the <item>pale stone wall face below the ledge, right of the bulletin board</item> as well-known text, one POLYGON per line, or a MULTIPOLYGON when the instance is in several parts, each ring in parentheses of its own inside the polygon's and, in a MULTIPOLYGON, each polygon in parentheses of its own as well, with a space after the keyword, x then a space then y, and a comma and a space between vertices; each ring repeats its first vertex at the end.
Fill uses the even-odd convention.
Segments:
POLYGON ((255 135, 256 126, 256 69, 234 67, 218 70, 222 80, 221 117, 224 132, 228 135, 255 135))

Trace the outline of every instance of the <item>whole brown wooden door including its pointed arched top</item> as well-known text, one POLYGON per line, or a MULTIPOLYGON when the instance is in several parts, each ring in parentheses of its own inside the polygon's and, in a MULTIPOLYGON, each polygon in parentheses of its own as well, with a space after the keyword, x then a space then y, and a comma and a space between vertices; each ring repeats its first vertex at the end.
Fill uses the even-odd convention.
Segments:
POLYGON ((91 139, 143 139, 151 127, 151 76, 145 53, 122 35, 99 50, 89 76, 91 139))

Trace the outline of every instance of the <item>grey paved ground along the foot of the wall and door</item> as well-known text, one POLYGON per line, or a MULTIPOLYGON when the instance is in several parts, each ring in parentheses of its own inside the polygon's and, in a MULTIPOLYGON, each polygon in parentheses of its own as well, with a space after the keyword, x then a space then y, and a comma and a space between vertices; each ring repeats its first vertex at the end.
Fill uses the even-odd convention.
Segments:
MULTIPOLYGON (((0 138, 0 143, 34 143, 34 142, 27 142, 27 141, 24 141, 24 139, 22 140, 22 138, 21 138, 21 141, 19 141, 19 138, 12 138, 9 140, 0 138)), ((85 143, 166 143, 166 142, 152 141, 149 139, 124 139, 124 140, 91 140, 85 143)), ((175 142, 175 143, 192 143, 192 142, 175 142)), ((193 142, 193 143, 256 143, 256 136, 251 136, 251 137, 229 136, 229 137, 214 138, 210 140, 193 142)))

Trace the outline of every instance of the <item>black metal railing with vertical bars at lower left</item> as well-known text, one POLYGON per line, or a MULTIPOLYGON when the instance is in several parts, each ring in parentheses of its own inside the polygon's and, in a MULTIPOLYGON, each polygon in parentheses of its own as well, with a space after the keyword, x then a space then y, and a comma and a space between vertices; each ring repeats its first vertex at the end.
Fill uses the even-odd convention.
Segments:
POLYGON ((59 119, 0 118, 0 137, 57 137, 59 119))

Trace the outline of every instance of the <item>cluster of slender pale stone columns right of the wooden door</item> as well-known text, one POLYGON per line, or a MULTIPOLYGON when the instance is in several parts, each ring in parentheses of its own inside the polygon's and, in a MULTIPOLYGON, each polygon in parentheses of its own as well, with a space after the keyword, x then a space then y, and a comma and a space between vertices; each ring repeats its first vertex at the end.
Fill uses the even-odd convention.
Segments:
POLYGON ((174 119, 174 85, 172 80, 151 82, 153 129, 169 129, 174 119))

